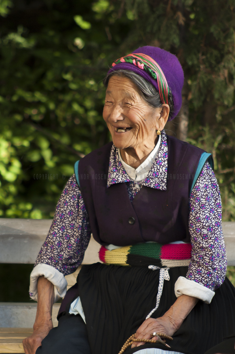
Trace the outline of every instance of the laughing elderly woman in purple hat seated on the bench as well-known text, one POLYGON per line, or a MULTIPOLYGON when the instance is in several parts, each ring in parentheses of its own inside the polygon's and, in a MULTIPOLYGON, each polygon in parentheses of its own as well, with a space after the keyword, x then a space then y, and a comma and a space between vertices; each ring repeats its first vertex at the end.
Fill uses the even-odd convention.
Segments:
POLYGON ((25 353, 202 354, 234 332, 235 289, 224 281, 211 155, 164 131, 181 107, 183 70, 145 46, 116 60, 104 84, 112 142, 75 164, 58 202, 31 274, 38 309, 25 353), (82 267, 51 329, 91 232, 103 264, 82 267))

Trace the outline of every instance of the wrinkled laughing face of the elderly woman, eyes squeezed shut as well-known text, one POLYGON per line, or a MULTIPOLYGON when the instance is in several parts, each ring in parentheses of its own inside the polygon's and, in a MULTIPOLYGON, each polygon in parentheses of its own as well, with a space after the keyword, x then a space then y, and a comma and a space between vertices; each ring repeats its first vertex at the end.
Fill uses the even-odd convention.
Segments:
POLYGON ((112 76, 105 96, 103 118, 119 149, 142 149, 154 144, 161 108, 148 105, 137 86, 125 76, 112 76), (147 144, 147 145, 146 145, 147 144))

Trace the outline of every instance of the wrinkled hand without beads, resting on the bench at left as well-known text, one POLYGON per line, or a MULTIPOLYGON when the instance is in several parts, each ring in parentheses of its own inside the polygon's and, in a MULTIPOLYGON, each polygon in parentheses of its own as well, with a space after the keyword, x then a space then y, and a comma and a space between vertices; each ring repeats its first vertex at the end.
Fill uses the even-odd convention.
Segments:
POLYGON ((43 324, 37 326, 30 337, 23 339, 23 347, 25 354, 35 354, 38 347, 41 346, 49 331, 53 328, 52 324, 43 324))

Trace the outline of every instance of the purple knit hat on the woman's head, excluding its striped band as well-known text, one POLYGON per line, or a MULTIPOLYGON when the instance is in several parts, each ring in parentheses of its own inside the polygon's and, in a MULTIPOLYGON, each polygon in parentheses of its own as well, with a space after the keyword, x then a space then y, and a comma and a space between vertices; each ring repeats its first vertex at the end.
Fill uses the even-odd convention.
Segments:
MULTIPOLYGON (((172 96, 173 96, 173 103, 174 107, 171 113, 171 116, 169 116, 168 120, 172 120, 175 118, 175 116, 178 114, 181 104, 182 104, 182 96, 181 96, 181 91, 183 87, 183 82, 184 82, 184 74, 183 74, 183 69, 181 67, 180 62, 178 61, 177 57, 170 52, 165 51, 164 49, 158 48, 158 47, 152 47, 152 46, 145 46, 145 47, 140 47, 136 49, 132 54, 135 53, 141 53, 144 56, 151 57, 154 62, 157 63, 157 66, 160 67, 159 70, 163 72, 163 78, 166 79, 168 87, 171 89, 172 96)), ((123 58, 126 58, 125 56, 123 58)), ((144 79, 147 81, 151 82, 151 84, 155 87, 157 91, 159 91, 159 86, 158 86, 158 80, 154 78, 154 73, 151 75, 150 71, 146 71, 143 69, 143 65, 138 64, 137 61, 135 61, 136 64, 131 62, 131 59, 128 59, 129 62, 126 62, 123 58, 118 60, 118 62, 114 62, 113 67, 108 70, 108 74, 112 73, 114 70, 131 70, 135 72, 136 74, 141 75, 144 79)), ((138 60, 139 61, 139 60, 138 60)), ((151 67, 151 64, 150 64, 151 67)), ((164 80, 163 80, 164 81, 164 80)), ((167 86, 166 84, 166 86, 167 86)), ((167 90, 167 89, 166 89, 167 90)), ((164 92, 164 89, 160 90, 164 92)), ((160 97, 161 97, 161 92, 160 92, 160 97)))

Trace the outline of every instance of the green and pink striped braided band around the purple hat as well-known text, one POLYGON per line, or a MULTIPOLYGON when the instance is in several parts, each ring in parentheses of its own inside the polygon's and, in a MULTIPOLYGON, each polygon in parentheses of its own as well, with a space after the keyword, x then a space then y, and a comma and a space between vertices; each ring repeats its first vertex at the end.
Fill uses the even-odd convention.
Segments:
POLYGON ((119 63, 131 63, 138 68, 145 70, 151 74, 154 80, 158 82, 159 94, 162 103, 168 103, 169 87, 166 81, 165 75, 155 60, 143 53, 128 54, 125 57, 115 60, 112 63, 112 67, 119 63))

